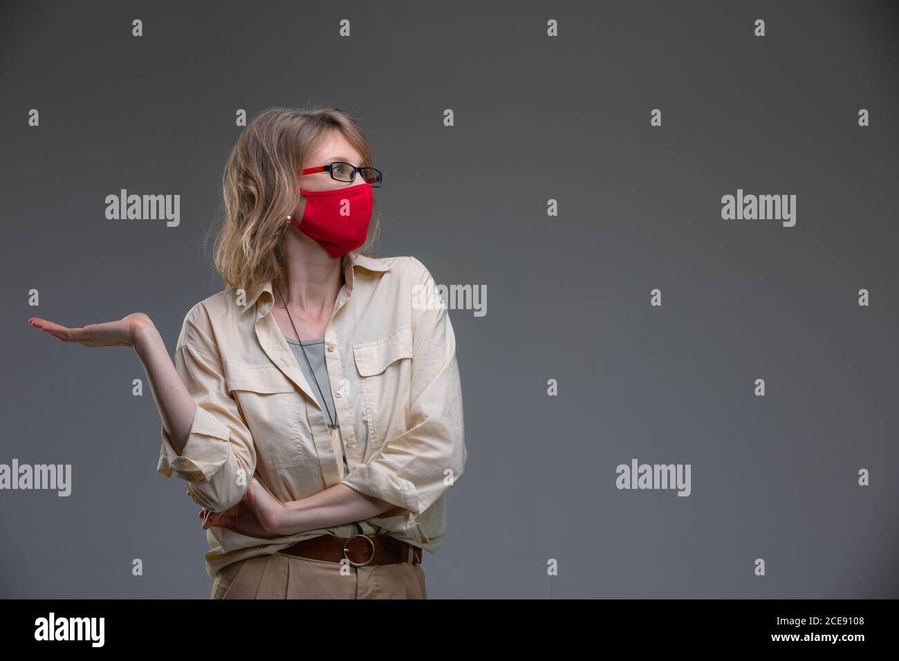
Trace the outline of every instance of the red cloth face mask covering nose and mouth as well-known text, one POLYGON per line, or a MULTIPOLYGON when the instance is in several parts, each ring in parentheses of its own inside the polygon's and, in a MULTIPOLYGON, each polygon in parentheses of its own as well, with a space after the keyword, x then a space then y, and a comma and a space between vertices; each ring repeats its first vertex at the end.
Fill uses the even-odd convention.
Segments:
POLYGON ((369 235, 374 193, 368 183, 334 191, 304 191, 303 218, 290 224, 322 246, 332 257, 340 257, 362 246, 369 235))

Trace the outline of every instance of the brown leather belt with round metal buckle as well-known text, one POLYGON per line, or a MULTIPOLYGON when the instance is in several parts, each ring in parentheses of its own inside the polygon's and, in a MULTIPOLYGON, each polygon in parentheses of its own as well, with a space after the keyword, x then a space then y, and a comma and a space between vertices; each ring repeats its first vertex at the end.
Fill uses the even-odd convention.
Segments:
POLYGON ((422 561, 421 548, 387 535, 372 537, 358 534, 349 538, 318 535, 298 541, 277 552, 295 558, 314 558, 330 562, 340 562, 346 558, 353 567, 383 565, 390 562, 415 564, 422 561))

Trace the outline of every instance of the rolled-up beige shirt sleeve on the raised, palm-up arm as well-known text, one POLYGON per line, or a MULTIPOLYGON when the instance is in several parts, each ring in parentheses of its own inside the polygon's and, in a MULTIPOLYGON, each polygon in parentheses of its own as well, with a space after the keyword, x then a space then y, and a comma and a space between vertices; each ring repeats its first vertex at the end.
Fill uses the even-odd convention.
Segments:
POLYGON ((224 512, 244 497, 256 468, 253 437, 236 399, 227 391, 221 358, 201 305, 184 317, 174 353, 175 369, 197 404, 181 454, 162 426, 156 472, 188 483, 194 502, 224 512))

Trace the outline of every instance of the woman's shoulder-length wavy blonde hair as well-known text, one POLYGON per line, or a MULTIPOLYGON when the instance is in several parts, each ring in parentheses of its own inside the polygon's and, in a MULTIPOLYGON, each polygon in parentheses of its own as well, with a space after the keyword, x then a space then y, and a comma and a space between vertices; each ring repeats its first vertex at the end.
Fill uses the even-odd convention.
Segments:
MULTIPOLYGON (((283 283, 283 237, 290 225, 287 217, 299 206, 302 166, 332 130, 360 153, 360 167, 375 167, 368 139, 340 108, 271 108, 254 117, 237 139, 222 176, 225 218, 213 258, 229 288, 249 292, 264 281, 283 283)), ((368 237, 354 252, 374 256, 367 251, 379 225, 376 199, 368 237)))

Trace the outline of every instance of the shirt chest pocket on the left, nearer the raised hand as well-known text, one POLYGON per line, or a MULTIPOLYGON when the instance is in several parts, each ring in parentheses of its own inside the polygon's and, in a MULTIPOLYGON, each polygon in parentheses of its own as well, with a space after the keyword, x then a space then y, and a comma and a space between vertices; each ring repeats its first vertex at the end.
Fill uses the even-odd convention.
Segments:
POLYGON ((302 466, 300 397, 297 387, 274 365, 226 362, 228 392, 240 405, 256 458, 266 469, 302 466))

